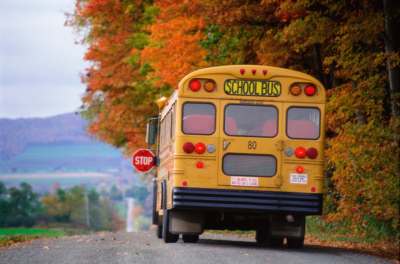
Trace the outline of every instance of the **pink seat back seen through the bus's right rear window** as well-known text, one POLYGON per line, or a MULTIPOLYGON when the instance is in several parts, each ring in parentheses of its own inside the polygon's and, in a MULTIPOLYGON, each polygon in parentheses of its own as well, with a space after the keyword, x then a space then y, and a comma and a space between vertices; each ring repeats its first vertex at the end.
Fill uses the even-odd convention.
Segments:
POLYGON ((318 128, 312 121, 289 119, 287 126, 286 130, 289 137, 297 139, 318 138, 318 128))

